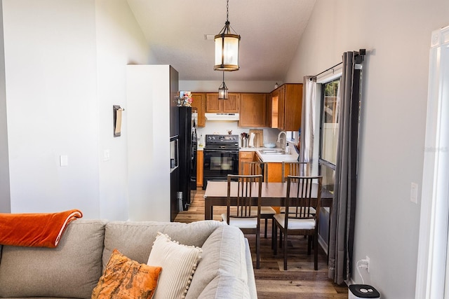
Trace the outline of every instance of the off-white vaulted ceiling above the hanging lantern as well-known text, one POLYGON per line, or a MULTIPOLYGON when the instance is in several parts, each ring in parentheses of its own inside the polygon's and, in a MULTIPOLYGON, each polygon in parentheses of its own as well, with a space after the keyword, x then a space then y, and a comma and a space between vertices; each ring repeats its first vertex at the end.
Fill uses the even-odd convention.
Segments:
MULTIPOLYGON (((226 21, 226 0, 128 0, 159 64, 180 80, 218 81, 214 41, 226 21)), ((229 22, 241 35, 239 71, 232 81, 281 81, 286 76, 315 0, 230 0, 229 22)))

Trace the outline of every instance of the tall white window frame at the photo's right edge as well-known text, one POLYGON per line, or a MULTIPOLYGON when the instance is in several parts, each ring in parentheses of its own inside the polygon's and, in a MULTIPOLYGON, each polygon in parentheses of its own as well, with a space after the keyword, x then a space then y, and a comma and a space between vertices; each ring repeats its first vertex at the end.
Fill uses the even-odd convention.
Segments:
POLYGON ((431 34, 415 298, 449 298, 449 27, 431 34))

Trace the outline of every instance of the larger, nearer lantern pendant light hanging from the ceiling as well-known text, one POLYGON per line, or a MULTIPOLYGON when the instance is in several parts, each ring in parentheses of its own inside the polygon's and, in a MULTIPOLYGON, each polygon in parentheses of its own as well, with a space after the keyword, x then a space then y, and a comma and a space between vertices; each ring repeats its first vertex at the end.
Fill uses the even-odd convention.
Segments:
MULTIPOLYGON (((226 5, 226 22, 222 31, 215 35, 215 71, 237 71, 239 69, 239 34, 231 32, 229 22, 229 0, 226 5)), ((233 29, 234 30, 234 29, 233 29)))

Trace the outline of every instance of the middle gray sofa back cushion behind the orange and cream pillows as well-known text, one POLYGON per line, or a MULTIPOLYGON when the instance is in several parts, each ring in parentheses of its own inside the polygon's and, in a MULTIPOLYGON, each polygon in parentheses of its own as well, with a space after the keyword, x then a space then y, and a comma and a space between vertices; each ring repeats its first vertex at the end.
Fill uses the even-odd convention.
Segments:
POLYGON ((180 244, 201 247, 209 235, 220 226, 223 226, 222 222, 212 220, 188 224, 157 221, 109 222, 105 230, 103 269, 114 249, 139 263, 147 263, 157 232, 167 234, 180 244))

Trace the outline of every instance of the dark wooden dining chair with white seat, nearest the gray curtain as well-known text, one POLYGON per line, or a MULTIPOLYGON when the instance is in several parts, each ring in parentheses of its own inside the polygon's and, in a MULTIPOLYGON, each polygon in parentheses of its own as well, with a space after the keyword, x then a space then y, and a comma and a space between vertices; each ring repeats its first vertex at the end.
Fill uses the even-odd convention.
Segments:
POLYGON ((283 247, 283 270, 287 270, 288 237, 307 235, 307 254, 311 253, 314 242, 314 268, 318 270, 318 225, 321 206, 322 176, 287 176, 287 194, 285 211, 274 215, 274 254, 277 254, 277 232, 279 228, 279 245, 283 247), (316 204, 312 204, 314 192, 316 204), (316 213, 312 214, 314 208, 316 213), (282 243, 283 237, 283 243, 282 243))

